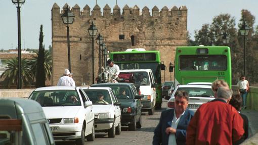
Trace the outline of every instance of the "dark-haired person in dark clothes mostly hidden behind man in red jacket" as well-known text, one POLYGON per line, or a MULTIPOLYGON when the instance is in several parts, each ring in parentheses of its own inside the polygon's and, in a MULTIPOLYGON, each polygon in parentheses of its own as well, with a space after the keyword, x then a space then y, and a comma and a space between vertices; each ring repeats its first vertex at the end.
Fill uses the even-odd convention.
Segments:
POLYGON ((241 106, 242 106, 242 98, 239 94, 234 94, 232 95, 232 98, 229 102, 230 105, 232 105, 237 111, 238 113, 241 115, 243 121, 244 121, 244 124, 243 124, 243 127, 244 127, 244 134, 243 136, 241 137, 240 140, 236 141, 235 143, 233 143, 234 145, 238 145, 238 144, 241 144, 247 137, 248 137, 248 118, 246 115, 240 113, 241 111, 241 106))

